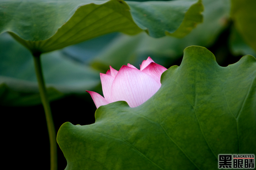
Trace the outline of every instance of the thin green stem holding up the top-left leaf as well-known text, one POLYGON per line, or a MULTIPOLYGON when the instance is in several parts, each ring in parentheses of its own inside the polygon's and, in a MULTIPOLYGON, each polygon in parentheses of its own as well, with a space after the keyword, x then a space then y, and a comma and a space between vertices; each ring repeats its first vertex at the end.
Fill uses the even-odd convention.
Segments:
POLYGON ((50 104, 47 98, 46 86, 44 83, 41 60, 41 53, 33 53, 34 65, 36 69, 36 76, 39 86, 39 92, 41 101, 43 103, 44 112, 46 114, 46 123, 50 139, 50 170, 57 170, 57 142, 56 142, 56 132, 54 128, 52 113, 50 110, 50 104))

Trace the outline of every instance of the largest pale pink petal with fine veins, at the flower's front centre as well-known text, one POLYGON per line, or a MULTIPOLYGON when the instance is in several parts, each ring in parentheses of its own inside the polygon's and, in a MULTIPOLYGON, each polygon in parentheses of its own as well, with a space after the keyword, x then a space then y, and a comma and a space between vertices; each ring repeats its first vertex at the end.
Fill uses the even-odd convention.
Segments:
POLYGON ((130 107, 137 107, 153 96, 160 86, 150 75, 122 66, 112 84, 111 101, 126 101, 130 107))

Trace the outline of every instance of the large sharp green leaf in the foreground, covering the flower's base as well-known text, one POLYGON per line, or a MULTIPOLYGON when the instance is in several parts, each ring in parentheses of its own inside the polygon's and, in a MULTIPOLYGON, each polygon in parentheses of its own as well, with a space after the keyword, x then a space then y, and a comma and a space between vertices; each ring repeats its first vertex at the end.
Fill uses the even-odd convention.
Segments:
POLYGON ((220 67, 204 47, 184 50, 142 105, 101 106, 91 125, 64 123, 66 170, 217 169, 218 154, 255 153, 256 59, 220 67))

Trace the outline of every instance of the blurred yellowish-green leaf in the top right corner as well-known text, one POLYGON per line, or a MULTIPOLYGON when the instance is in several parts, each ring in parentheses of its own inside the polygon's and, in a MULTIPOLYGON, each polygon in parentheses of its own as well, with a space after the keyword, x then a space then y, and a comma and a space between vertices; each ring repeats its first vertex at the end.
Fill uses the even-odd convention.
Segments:
POLYGON ((256 51, 256 1, 231 0, 231 17, 243 39, 256 51))

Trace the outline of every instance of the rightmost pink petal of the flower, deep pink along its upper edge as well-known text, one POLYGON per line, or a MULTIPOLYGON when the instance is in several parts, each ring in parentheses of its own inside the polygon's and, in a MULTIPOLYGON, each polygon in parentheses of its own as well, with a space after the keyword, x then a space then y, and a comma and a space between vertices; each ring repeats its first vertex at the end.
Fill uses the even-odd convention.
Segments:
POLYGON ((150 75, 151 77, 153 77, 157 82, 160 82, 161 79, 161 75, 162 73, 165 72, 165 70, 167 70, 167 68, 165 68, 164 66, 161 66, 159 64, 156 63, 150 63, 146 68, 144 68, 142 70, 142 72, 150 75))

